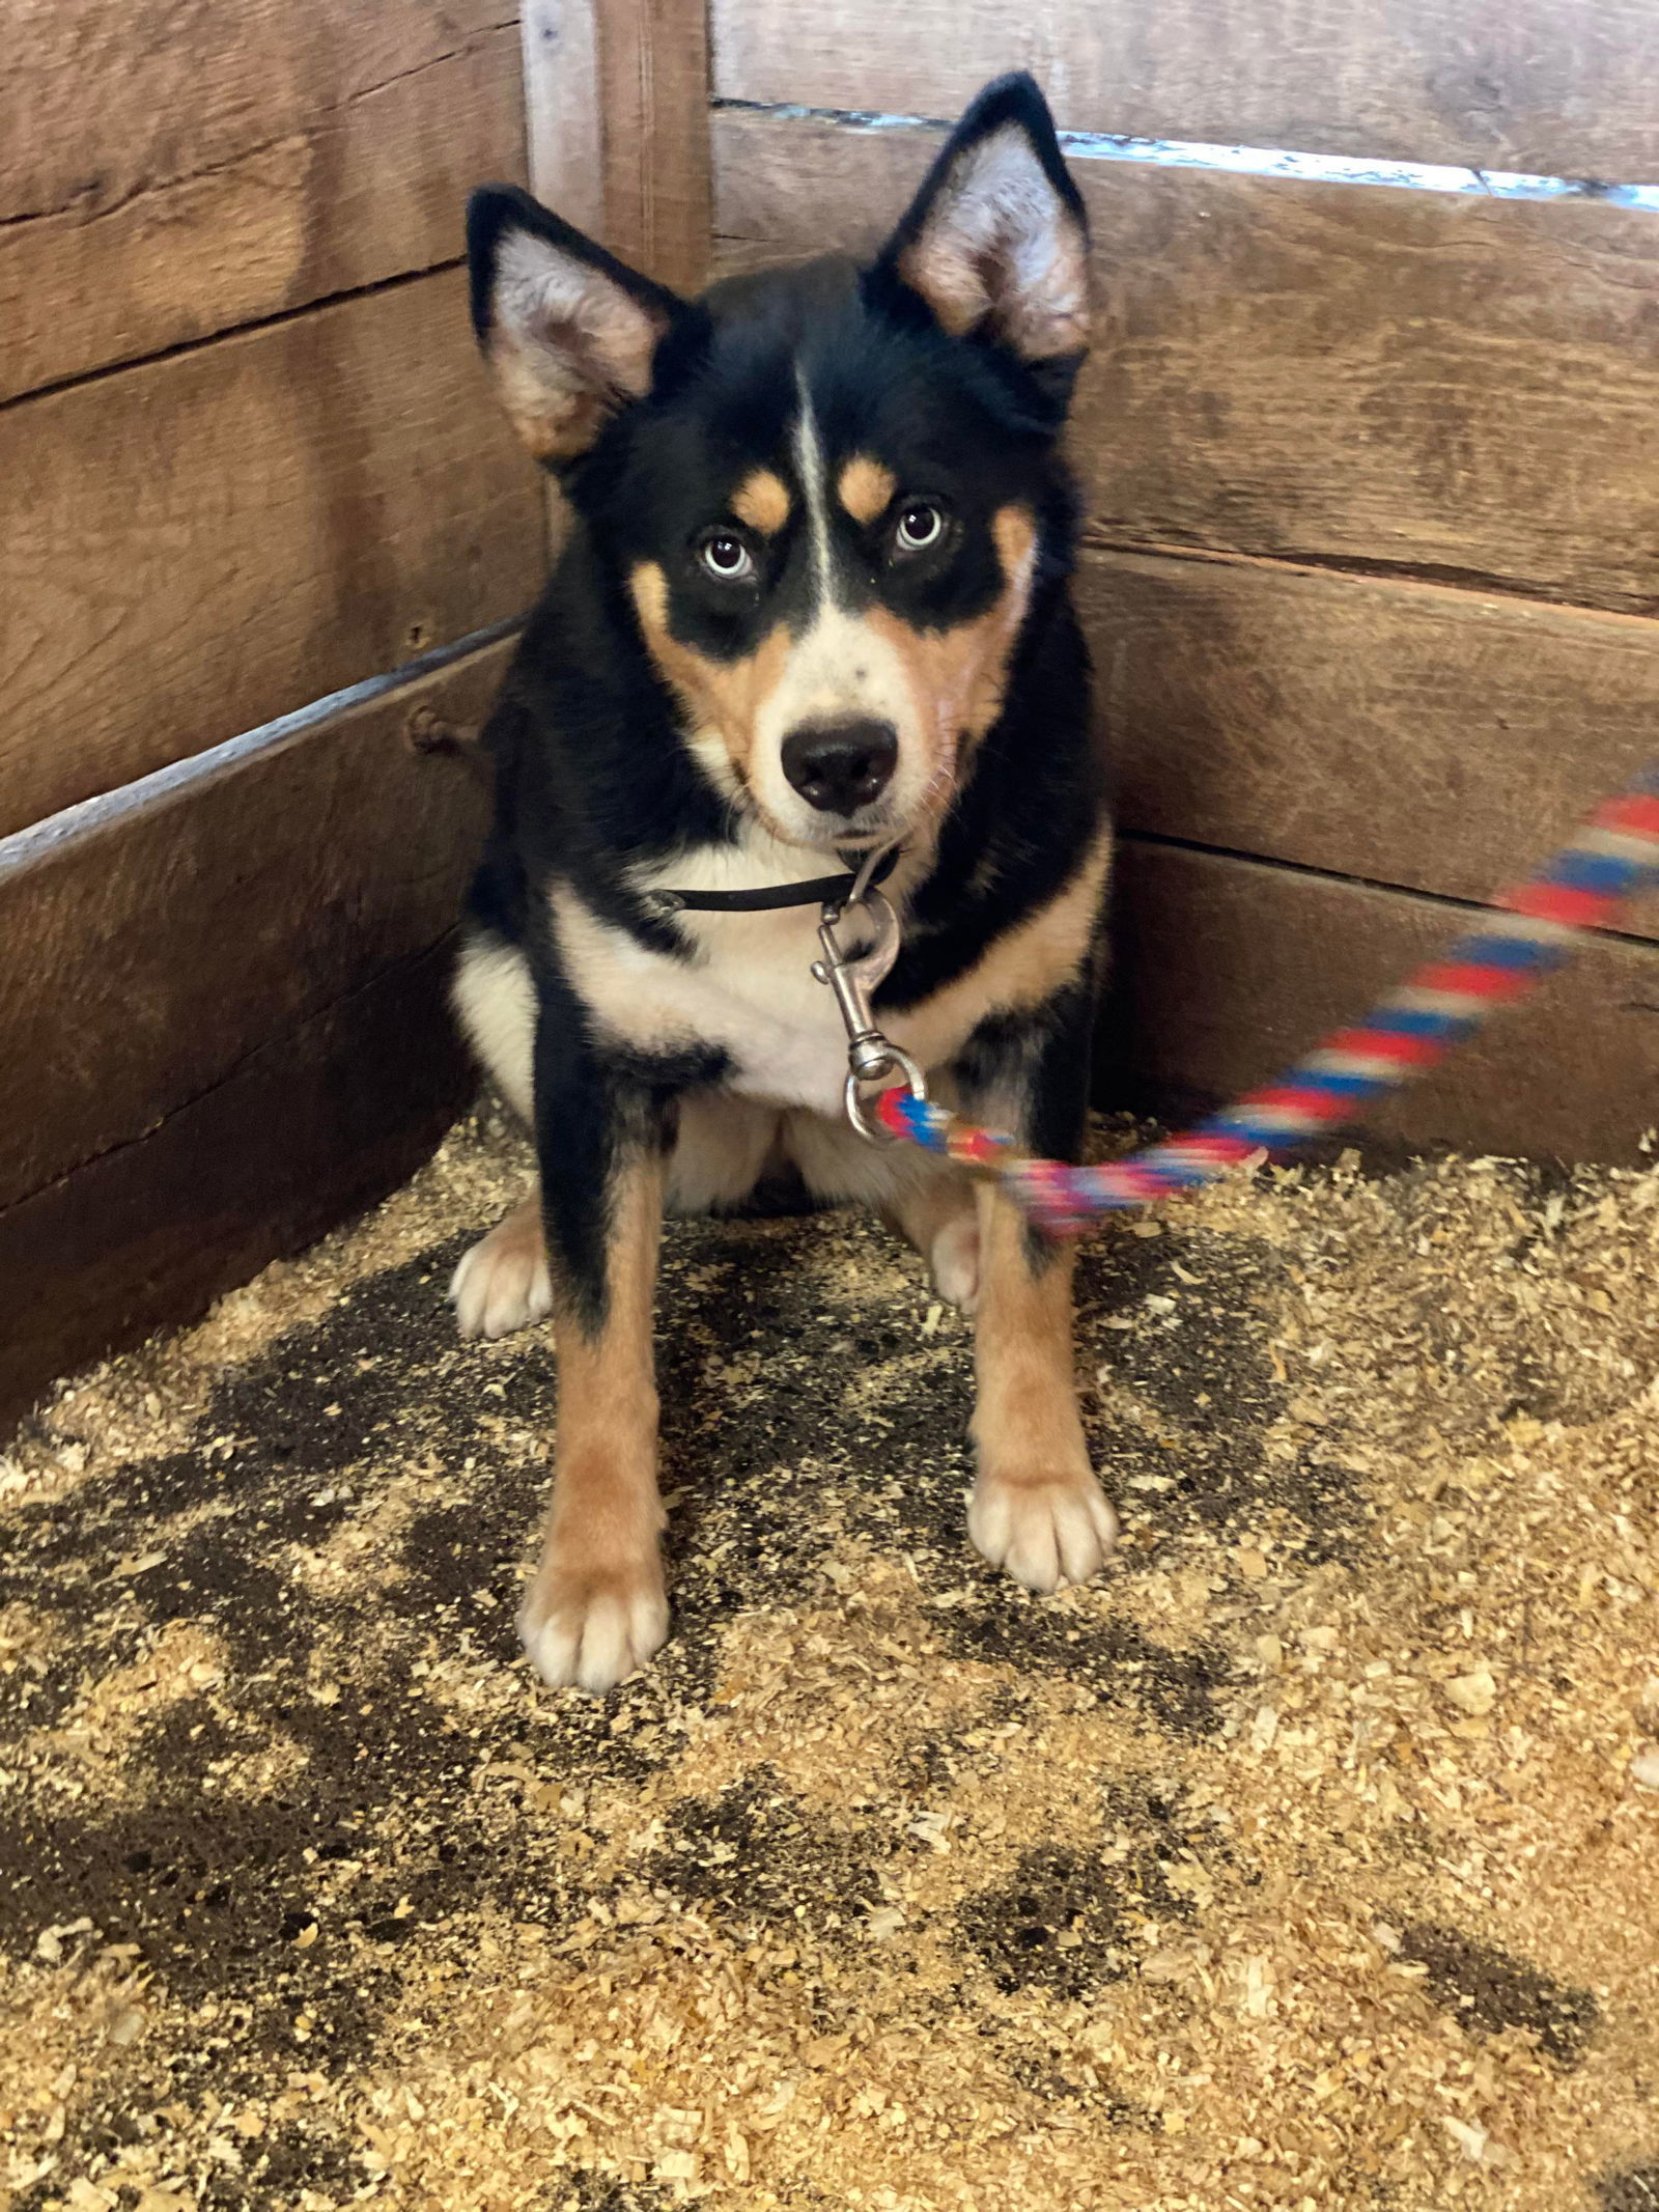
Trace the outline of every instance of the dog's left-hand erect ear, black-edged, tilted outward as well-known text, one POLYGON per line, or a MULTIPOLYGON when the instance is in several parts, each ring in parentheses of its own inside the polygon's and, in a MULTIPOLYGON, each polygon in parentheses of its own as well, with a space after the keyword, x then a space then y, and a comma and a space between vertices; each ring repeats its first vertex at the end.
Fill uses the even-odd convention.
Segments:
POLYGON ((573 460, 650 389, 684 301, 507 184, 467 201, 467 261, 473 330, 513 427, 538 460, 573 460))

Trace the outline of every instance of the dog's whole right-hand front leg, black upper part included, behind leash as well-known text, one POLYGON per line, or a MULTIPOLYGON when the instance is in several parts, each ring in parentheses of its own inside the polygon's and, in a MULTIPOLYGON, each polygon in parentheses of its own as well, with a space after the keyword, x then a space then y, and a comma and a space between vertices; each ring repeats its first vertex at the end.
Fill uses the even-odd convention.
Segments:
MULTIPOLYGON (((1093 991, 1073 989, 1026 1040, 980 1055, 969 1113, 995 1115, 1040 1152, 1077 1159, 1088 1099, 1093 991)), ((1073 1254, 1044 1245, 1000 1190, 978 1186, 980 1298, 969 1535, 1029 1590, 1088 1582, 1117 1537, 1088 1464, 1071 1347, 1073 1254)))

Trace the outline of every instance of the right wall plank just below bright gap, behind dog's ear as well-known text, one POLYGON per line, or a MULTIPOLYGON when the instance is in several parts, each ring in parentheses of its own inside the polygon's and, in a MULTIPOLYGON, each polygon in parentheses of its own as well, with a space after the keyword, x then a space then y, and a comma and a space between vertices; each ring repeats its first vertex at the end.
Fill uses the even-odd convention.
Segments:
MULTIPOLYGON (((719 268, 872 243, 927 131, 723 113, 719 268)), ((1659 223, 1077 161, 1102 299, 1095 531, 1659 611, 1659 223)))

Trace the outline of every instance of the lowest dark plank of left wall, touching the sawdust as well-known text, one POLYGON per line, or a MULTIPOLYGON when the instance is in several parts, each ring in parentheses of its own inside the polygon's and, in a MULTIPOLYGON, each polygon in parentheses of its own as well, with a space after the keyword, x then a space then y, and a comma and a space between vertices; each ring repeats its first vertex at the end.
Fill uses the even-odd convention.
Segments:
POLYGON ((465 1106, 451 949, 383 969, 135 1144, 0 1208, 0 1436, 64 1374, 396 1190, 465 1106))

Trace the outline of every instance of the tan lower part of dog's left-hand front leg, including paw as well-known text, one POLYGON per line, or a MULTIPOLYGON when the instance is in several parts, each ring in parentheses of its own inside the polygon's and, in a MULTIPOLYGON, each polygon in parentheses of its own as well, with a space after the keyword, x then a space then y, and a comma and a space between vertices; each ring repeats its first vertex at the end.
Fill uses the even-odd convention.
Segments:
POLYGON ((657 1495, 657 1283, 666 1161, 639 1155, 615 1177, 606 1312, 597 1329, 562 1312, 553 1511, 518 1617, 524 1650, 555 1688, 608 1690, 668 1635, 657 1495))

